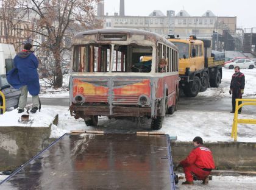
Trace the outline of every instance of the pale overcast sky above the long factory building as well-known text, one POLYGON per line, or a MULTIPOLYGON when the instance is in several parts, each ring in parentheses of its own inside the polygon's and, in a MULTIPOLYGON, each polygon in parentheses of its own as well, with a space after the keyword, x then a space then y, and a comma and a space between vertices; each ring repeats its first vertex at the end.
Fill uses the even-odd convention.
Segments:
MULTIPOLYGON (((256 27, 256 0, 124 0, 125 14, 148 16, 153 10, 178 13, 185 9, 190 16, 202 16, 212 10, 216 16, 236 16, 237 27, 256 27)), ((119 13, 119 0, 105 0, 105 13, 119 13)))

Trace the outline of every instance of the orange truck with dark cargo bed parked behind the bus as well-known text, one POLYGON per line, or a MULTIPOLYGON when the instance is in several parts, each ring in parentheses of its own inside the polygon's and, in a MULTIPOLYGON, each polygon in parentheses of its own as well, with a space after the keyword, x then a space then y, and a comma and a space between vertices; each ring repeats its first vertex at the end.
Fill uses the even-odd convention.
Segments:
POLYGON ((182 40, 169 35, 168 40, 179 49, 179 87, 186 96, 194 97, 199 91, 206 91, 208 86, 219 86, 224 52, 212 51, 210 40, 197 40, 194 36, 182 40))

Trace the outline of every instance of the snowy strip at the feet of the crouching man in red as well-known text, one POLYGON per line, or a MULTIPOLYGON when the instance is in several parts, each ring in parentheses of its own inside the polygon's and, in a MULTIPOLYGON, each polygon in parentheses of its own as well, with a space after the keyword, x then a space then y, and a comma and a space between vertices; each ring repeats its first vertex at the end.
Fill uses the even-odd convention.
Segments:
POLYGON ((213 176, 212 181, 209 181, 208 185, 202 185, 202 181, 194 181, 193 186, 181 185, 185 180, 179 180, 176 189, 190 189, 190 190, 254 190, 256 186, 256 177, 249 176, 213 176))

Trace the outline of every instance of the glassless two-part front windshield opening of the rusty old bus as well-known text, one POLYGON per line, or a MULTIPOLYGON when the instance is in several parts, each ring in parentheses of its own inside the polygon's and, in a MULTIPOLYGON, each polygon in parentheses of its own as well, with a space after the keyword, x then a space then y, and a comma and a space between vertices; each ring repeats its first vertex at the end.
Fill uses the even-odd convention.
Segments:
POLYGON ((137 44, 85 44, 74 46, 74 72, 151 72, 151 46, 137 44), (113 47, 113 52, 112 52, 113 47))

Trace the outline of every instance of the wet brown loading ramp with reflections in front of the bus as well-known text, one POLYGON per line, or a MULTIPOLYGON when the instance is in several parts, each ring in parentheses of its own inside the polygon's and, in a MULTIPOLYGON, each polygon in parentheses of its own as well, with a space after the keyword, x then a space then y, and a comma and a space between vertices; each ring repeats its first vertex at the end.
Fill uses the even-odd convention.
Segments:
POLYGON ((176 189, 169 136, 67 133, 0 189, 176 189))

